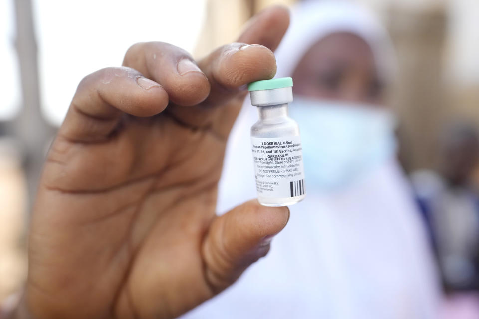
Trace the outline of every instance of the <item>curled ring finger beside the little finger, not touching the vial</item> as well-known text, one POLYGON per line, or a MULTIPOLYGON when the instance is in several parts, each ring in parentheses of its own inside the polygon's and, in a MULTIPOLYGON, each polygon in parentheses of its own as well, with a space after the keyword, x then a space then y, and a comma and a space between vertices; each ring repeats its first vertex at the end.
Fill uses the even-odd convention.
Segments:
POLYGON ((126 52, 123 65, 160 83, 177 105, 198 104, 210 93, 208 79, 191 55, 168 43, 134 44, 126 52))

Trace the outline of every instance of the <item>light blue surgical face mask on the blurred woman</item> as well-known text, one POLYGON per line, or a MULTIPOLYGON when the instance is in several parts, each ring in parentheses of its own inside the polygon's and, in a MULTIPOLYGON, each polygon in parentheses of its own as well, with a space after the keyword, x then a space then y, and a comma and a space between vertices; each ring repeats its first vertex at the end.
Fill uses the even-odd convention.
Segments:
POLYGON ((393 114, 380 107, 295 98, 309 189, 347 186, 396 152, 393 114))

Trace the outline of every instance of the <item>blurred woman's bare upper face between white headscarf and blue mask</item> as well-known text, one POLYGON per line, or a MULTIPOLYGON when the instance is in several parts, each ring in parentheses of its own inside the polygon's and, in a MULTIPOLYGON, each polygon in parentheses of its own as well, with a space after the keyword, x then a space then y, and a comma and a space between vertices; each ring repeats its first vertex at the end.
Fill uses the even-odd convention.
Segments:
POLYGON ((384 104, 373 52, 360 37, 333 33, 314 44, 293 72, 295 95, 384 104))

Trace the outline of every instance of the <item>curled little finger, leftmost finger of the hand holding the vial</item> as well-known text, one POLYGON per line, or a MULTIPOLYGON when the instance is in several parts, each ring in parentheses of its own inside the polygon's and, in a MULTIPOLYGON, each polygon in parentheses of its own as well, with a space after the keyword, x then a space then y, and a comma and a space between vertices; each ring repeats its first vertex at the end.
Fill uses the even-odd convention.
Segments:
POLYGON ((104 139, 115 130, 122 112, 151 116, 168 105, 168 94, 155 81, 131 68, 106 68, 78 85, 59 135, 75 142, 104 139))

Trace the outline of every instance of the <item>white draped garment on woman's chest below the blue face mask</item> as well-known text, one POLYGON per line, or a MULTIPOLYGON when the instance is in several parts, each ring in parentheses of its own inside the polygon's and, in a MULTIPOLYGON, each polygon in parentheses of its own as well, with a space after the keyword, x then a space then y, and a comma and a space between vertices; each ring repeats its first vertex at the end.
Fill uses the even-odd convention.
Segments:
POLYGON ((437 319, 436 279, 409 196, 393 160, 342 193, 307 193, 267 257, 182 318, 437 319))

